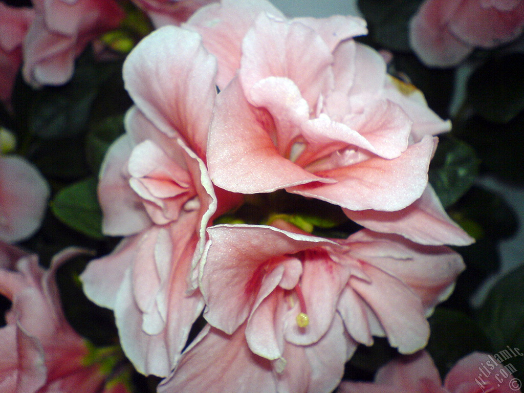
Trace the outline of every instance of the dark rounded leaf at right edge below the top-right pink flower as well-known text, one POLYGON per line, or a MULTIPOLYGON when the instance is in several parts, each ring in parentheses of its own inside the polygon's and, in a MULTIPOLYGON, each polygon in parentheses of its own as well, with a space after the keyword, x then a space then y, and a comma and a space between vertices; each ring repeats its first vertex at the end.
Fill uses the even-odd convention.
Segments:
POLYGON ((524 54, 489 59, 467 83, 467 99, 475 111, 496 123, 507 123, 524 110, 524 54))

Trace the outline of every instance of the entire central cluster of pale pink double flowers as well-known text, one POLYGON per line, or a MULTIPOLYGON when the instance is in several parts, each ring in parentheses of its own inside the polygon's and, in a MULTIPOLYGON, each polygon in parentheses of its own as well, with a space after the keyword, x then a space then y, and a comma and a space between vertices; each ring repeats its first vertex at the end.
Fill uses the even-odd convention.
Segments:
POLYGON ((473 239, 428 167, 450 123, 386 73, 356 17, 287 19, 223 0, 160 27, 124 64, 135 106, 99 198, 124 236, 83 272, 159 392, 330 392, 359 344, 425 346, 473 239), (341 206, 346 239, 292 224, 213 225, 276 190, 341 206), (195 320, 208 324, 184 349, 195 320))

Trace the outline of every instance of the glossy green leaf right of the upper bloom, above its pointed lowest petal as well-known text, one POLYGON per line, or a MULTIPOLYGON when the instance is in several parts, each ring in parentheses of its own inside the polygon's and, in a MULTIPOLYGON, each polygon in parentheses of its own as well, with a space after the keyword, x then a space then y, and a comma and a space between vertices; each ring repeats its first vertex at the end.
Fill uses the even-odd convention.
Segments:
POLYGON ((443 136, 431 161, 429 181, 444 208, 448 208, 469 190, 478 174, 475 150, 462 141, 443 136))

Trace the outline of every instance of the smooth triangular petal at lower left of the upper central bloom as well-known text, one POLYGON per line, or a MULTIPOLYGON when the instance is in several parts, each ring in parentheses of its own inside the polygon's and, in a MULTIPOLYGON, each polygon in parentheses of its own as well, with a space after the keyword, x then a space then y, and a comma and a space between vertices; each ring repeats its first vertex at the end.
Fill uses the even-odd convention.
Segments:
POLYGON ((256 109, 244 98, 234 79, 216 100, 208 142, 208 167, 213 182, 223 189, 257 193, 324 179, 278 154, 256 109))

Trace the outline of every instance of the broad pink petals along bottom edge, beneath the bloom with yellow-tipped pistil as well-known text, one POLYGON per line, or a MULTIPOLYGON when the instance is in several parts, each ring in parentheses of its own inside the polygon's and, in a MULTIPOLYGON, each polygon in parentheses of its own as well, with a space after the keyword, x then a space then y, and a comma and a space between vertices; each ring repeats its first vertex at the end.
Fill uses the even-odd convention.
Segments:
POLYGON ((344 333, 340 316, 312 345, 285 343, 283 358, 269 361, 250 351, 246 325, 228 335, 207 325, 184 352, 178 368, 158 386, 159 393, 331 392, 344 374, 355 342, 344 333))

